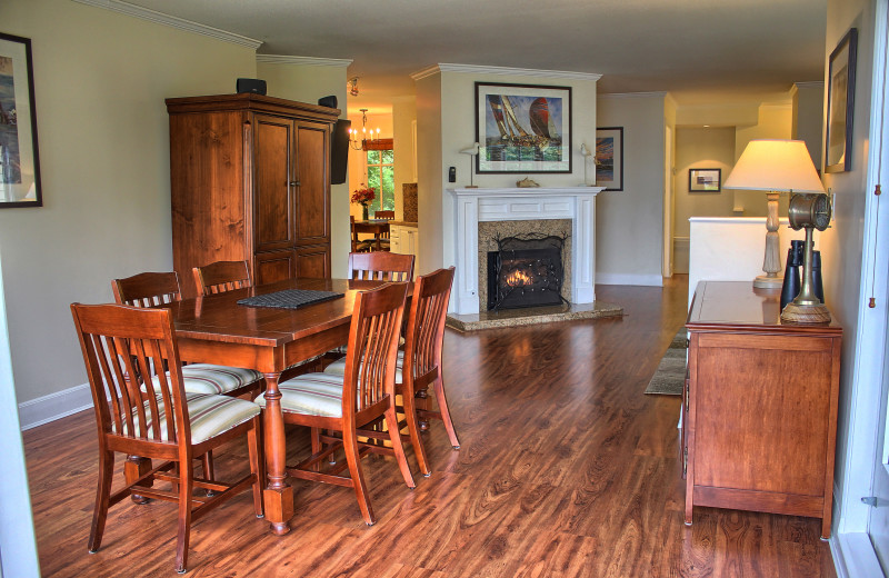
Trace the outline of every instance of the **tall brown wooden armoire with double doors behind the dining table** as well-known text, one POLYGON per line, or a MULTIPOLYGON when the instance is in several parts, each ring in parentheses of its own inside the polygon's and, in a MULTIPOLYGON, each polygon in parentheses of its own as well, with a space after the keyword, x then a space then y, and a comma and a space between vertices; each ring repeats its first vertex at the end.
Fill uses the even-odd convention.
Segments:
POLYGON ((247 260, 257 285, 330 277, 339 110, 259 94, 167 99, 173 268, 247 260))

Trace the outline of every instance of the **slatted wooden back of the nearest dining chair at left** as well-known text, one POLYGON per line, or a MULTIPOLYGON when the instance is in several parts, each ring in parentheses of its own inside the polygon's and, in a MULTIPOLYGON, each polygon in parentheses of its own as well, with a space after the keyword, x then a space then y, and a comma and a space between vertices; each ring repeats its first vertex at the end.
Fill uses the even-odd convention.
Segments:
POLYGON ((190 439, 171 311, 72 303, 71 315, 100 439, 109 435, 162 444, 190 439), (167 361, 173 371, 163 370, 167 361), (160 393, 143 395, 154 391, 152 377, 160 393))

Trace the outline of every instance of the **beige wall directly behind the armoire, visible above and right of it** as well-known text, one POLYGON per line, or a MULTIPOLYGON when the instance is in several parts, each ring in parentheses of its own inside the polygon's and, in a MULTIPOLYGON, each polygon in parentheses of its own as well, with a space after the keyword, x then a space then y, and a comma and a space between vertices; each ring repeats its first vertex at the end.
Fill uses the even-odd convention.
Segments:
MULTIPOLYGON (((314 104, 333 94, 346 118, 346 66, 314 66, 292 62, 259 62, 257 77, 266 80, 270 97, 314 104)), ((344 277, 349 265, 349 185, 330 187, 330 267, 333 277, 344 277)))

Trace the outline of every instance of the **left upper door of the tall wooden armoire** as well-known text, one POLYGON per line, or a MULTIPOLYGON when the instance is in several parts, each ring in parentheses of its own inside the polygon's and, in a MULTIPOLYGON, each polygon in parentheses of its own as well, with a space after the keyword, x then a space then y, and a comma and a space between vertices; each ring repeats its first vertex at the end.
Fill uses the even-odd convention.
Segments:
POLYGON ((253 239, 256 251, 293 247, 293 121, 253 116, 253 239))

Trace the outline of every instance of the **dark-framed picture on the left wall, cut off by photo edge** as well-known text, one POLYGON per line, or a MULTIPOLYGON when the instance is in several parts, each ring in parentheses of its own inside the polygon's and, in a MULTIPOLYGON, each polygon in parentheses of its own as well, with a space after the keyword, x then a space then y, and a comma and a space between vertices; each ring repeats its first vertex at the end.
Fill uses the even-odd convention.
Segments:
POLYGON ((31 40, 0 32, 0 208, 42 206, 31 40))

